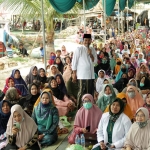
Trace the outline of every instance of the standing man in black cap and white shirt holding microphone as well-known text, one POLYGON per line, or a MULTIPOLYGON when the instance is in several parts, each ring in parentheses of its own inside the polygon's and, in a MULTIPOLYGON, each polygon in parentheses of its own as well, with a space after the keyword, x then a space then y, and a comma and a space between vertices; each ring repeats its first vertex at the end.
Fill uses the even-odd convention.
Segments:
POLYGON ((97 64, 97 54, 90 47, 91 42, 91 34, 84 34, 83 45, 77 47, 72 59, 72 70, 79 81, 78 108, 82 106, 81 98, 84 94, 94 95, 94 65, 97 64))

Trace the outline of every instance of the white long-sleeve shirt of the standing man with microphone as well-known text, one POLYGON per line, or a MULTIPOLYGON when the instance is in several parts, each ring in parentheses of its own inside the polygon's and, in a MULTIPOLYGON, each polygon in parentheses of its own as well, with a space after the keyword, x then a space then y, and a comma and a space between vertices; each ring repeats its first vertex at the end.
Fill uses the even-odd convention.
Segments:
POLYGON ((77 71, 77 79, 95 79, 94 65, 97 64, 97 54, 94 48, 91 48, 94 62, 88 55, 87 47, 84 45, 77 47, 73 53, 72 70, 77 71))

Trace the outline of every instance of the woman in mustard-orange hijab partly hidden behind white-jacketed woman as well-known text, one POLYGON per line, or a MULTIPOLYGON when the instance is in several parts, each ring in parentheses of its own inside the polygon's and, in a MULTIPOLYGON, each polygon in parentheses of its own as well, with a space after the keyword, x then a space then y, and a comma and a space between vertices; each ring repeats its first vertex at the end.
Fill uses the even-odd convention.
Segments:
MULTIPOLYGON (((131 111, 131 108, 130 108, 129 104, 127 103, 126 94, 125 93, 118 93, 116 97, 120 98, 124 102, 125 107, 124 107, 123 113, 125 115, 127 115, 130 118, 131 121, 133 121, 134 120, 134 115, 131 111)), ((107 106, 107 108, 105 109, 105 112, 109 112, 109 106, 107 106)))

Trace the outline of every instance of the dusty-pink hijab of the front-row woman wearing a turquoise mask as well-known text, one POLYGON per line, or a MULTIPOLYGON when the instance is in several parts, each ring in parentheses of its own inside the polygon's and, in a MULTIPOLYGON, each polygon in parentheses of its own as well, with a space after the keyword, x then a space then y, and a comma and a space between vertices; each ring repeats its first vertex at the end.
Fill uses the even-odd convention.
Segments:
POLYGON ((83 106, 78 110, 75 117, 74 126, 81 128, 90 126, 90 133, 93 133, 98 128, 102 111, 94 104, 93 96, 91 94, 83 95, 82 100, 85 98, 88 98, 93 103, 93 106, 89 110, 86 110, 83 106))

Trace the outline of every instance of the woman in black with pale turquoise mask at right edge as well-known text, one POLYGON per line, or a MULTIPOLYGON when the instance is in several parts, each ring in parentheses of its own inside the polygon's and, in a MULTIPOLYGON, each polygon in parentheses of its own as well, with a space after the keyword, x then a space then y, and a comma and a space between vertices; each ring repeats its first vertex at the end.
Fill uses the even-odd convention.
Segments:
POLYGON ((138 87, 141 90, 143 96, 146 96, 146 94, 150 92, 149 84, 150 84, 150 80, 146 76, 141 77, 138 87))

